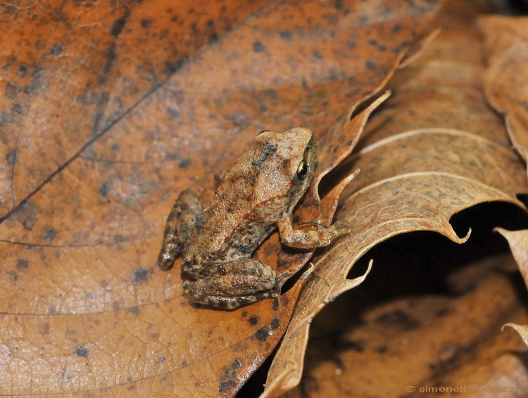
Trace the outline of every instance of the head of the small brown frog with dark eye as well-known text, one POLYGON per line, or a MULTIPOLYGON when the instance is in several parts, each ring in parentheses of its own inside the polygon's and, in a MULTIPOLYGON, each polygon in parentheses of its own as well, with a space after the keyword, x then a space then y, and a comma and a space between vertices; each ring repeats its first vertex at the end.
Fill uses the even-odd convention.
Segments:
MULTIPOLYGON (((316 165, 316 149, 310 129, 295 127, 282 133, 261 131, 254 145, 260 158, 253 161, 258 172, 257 192, 267 199, 282 198, 284 210, 291 213, 312 180, 316 165)), ((265 200, 265 198, 262 198, 265 200)))

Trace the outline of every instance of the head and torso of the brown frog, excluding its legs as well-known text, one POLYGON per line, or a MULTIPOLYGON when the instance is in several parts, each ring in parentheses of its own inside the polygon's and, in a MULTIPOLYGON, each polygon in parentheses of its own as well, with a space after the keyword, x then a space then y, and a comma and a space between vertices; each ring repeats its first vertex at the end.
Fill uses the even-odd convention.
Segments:
MULTIPOLYGON (((308 187, 315 147, 308 129, 263 131, 222 176, 201 229, 187 245, 186 261, 250 256, 288 217, 308 187), (302 165, 306 179, 299 179, 302 165)), ((304 176, 304 175, 303 175, 304 176)))

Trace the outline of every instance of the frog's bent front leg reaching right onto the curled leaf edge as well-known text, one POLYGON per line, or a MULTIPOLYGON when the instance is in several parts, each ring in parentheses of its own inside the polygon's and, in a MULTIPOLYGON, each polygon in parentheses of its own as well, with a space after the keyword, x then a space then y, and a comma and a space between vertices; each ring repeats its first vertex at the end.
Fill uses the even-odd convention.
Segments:
POLYGON ((284 245, 297 249, 322 248, 329 245, 338 236, 350 233, 350 226, 346 222, 335 222, 331 226, 318 224, 318 229, 294 229, 291 217, 282 219, 279 226, 280 240, 284 245))

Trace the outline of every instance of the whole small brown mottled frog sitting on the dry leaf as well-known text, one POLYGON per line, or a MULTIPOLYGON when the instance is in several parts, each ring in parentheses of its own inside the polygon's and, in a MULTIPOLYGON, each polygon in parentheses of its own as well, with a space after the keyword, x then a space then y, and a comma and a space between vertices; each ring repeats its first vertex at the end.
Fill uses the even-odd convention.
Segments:
POLYGON ((312 250, 349 233, 343 222, 294 229, 293 212, 308 190, 317 165, 313 133, 305 127, 260 131, 218 177, 206 208, 187 188, 170 210, 158 266, 168 270, 182 257, 184 293, 191 302, 236 309, 279 297, 274 269, 253 259, 259 245, 279 230, 282 245, 312 250))

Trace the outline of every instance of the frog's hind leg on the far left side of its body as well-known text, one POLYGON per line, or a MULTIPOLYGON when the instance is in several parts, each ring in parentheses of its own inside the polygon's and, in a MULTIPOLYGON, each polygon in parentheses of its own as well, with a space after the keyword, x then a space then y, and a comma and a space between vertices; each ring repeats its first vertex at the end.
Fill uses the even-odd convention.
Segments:
POLYGON ((158 255, 158 265, 161 269, 172 267, 174 260, 182 252, 183 244, 189 238, 191 230, 196 225, 196 218, 202 210, 196 193, 190 189, 180 193, 165 223, 163 243, 158 255))

